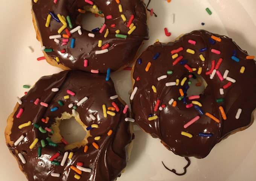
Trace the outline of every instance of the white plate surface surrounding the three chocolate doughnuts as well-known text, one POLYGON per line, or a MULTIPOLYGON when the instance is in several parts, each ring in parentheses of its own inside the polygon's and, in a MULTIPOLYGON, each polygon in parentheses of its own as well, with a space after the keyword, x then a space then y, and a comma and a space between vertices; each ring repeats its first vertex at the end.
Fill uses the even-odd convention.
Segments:
MULTIPOLYGON (((146 0, 148 2, 148 0, 146 0)), ((16 103, 16 96, 23 96, 23 84, 33 85, 38 78, 61 71, 48 65, 42 56, 40 42, 35 38, 30 13, 30 0, 0 0, 0 181, 26 181, 14 157, 5 145, 6 119, 16 103), (28 46, 34 48, 31 53, 28 46)), ((255 0, 152 0, 158 17, 149 17, 150 37, 144 47, 155 39, 168 42, 182 33, 206 29, 232 37, 249 54, 256 55, 256 1, 255 0), (213 12, 208 15, 205 8, 213 12), (175 14, 172 24, 171 14, 175 14), (201 26, 201 22, 206 23, 201 26), (168 27, 172 33, 166 37, 168 27)), ((131 89, 130 71, 111 74, 117 92, 128 103, 131 89)), ((248 85, 249 86, 249 85, 248 85)), ((254 95, 251 95, 254 96, 254 95)), ((164 148, 160 140, 153 139, 135 126, 134 149, 126 172, 119 181, 255 181, 256 180, 256 123, 245 131, 236 133, 218 143, 204 159, 191 158, 191 165, 184 176, 166 170, 183 171, 184 158, 164 148)))

